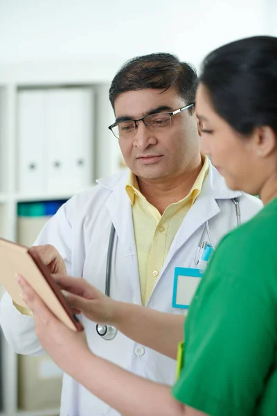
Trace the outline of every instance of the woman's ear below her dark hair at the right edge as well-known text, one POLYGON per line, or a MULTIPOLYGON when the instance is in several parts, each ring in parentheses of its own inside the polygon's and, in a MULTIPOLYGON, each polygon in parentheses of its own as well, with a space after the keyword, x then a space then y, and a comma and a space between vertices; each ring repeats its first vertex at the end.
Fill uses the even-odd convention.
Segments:
POLYGON ((258 156, 267 157, 276 151, 276 132, 269 125, 256 128, 254 135, 254 150, 258 156))

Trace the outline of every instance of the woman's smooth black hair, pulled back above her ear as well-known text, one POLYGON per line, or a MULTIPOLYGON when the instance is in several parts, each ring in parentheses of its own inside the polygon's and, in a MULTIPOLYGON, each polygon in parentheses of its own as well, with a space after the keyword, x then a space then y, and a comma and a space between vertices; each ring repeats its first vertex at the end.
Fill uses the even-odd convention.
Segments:
POLYGON ((211 52, 199 82, 222 119, 242 135, 261 125, 277 132, 277 37, 238 40, 211 52))

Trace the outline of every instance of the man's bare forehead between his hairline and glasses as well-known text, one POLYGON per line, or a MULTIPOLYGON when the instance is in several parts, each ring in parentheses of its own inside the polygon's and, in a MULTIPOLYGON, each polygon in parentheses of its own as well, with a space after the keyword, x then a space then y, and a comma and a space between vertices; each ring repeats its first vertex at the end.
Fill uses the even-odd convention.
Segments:
POLYGON ((138 91, 122 92, 116 98, 114 111, 116 117, 140 117, 154 108, 166 105, 174 110, 184 105, 184 100, 177 94, 175 88, 163 89, 145 88, 138 91))

